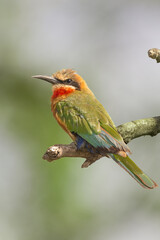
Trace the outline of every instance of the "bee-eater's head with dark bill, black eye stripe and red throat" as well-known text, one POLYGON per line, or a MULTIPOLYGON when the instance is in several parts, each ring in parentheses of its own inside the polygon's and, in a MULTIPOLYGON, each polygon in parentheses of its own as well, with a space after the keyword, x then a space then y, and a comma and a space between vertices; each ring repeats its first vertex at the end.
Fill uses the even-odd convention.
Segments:
POLYGON ((75 91, 90 92, 86 82, 72 69, 62 69, 52 76, 36 75, 33 78, 42 79, 52 84, 53 98, 67 96, 75 91))

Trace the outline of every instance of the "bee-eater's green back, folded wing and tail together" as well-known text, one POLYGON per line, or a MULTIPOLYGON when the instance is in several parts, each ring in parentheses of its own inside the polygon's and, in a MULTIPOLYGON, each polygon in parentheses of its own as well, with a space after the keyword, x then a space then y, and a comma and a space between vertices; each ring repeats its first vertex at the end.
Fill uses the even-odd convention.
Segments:
POLYGON ((76 133, 100 153, 109 155, 143 187, 157 186, 128 156, 114 154, 115 150, 128 153, 130 150, 94 95, 76 91, 56 104, 56 112, 70 132, 76 133))

